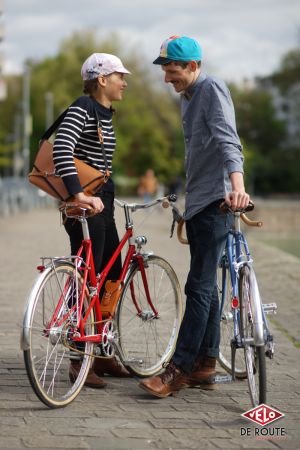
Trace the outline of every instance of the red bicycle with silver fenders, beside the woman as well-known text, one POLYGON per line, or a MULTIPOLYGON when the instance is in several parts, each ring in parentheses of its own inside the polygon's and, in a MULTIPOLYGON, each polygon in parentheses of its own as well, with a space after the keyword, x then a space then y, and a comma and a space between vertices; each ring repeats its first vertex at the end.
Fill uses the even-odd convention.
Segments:
POLYGON ((175 196, 146 204, 115 200, 125 213, 125 234, 109 263, 95 273, 86 208, 64 206, 79 220, 83 241, 76 256, 43 257, 29 294, 21 346, 26 371, 38 398, 48 407, 72 402, 82 389, 93 358, 117 354, 138 377, 158 373, 170 360, 182 316, 182 297, 170 264, 143 251, 145 236, 134 236, 132 213, 175 196), (128 249, 119 280, 107 274, 125 244, 128 249), (72 359, 81 361, 69 378, 72 359))

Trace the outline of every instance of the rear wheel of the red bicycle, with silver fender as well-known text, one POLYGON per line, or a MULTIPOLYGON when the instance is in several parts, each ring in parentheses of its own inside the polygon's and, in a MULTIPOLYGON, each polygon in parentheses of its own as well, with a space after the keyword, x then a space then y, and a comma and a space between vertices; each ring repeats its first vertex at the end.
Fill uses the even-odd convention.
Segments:
MULTIPOLYGON (((31 290, 23 322, 24 361, 30 384, 37 397, 50 408, 71 403, 81 391, 91 364, 93 343, 81 343, 79 354, 71 340, 71 330, 77 321, 75 302, 80 297, 83 279, 74 265, 59 262, 46 268, 31 290), (59 300, 62 298, 63 300, 59 300), (54 318, 56 315, 56 318, 54 318), (50 320, 53 323, 50 324, 50 320), (71 360, 81 362, 78 373, 69 370, 71 360)), ((83 309, 89 304, 86 289, 83 309)), ((91 311, 85 327, 94 334, 94 314, 91 311)))

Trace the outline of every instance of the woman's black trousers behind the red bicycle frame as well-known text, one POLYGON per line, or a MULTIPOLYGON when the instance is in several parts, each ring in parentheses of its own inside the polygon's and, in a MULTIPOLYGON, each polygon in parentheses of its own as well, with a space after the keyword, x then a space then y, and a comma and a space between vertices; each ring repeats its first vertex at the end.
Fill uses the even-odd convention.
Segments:
MULTIPOLYGON (((89 232, 92 240, 92 249, 96 273, 105 267, 113 252, 119 245, 119 237, 114 219, 114 194, 101 192, 97 194, 103 204, 101 214, 88 218, 89 232)), ((65 229, 70 237, 72 255, 76 255, 82 242, 82 228, 78 220, 68 219, 65 229)), ((107 279, 117 280, 121 271, 121 256, 118 257, 111 268, 107 279)))

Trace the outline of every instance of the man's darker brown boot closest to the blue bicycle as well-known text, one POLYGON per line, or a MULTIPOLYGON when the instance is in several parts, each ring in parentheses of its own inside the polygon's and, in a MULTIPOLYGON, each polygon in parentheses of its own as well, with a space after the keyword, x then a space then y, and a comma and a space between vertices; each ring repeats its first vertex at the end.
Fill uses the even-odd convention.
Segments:
POLYGON ((186 376, 189 387, 200 386, 201 389, 216 389, 215 383, 217 358, 200 356, 196 359, 190 375, 186 376))

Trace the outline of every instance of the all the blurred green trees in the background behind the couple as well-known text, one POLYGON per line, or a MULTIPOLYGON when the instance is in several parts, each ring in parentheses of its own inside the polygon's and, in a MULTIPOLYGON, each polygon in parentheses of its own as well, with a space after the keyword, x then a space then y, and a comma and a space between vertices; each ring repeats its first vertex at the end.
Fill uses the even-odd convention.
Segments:
MULTIPOLYGON (((178 97, 171 96, 163 83, 153 78, 137 49, 123 47, 116 34, 98 39, 94 31, 73 33, 62 41, 57 55, 30 62, 31 162, 46 127, 46 93, 53 94, 53 113, 57 117, 82 95, 81 66, 93 52, 120 56, 132 72, 127 76, 124 100, 114 105, 117 137, 114 175, 120 186, 127 183, 133 188, 148 168, 166 184, 176 175, 183 175, 184 144, 178 97)), ((300 48, 296 48, 284 55, 279 69, 268 80, 285 93, 299 83, 299 75, 300 48)), ((16 132, 20 128, 17 119, 22 110, 22 78, 7 77, 6 81, 8 98, 0 103, 0 171, 5 168, 5 173, 12 167, 13 151, 20 150, 22 139, 20 132, 16 132)), ((247 189, 252 193, 300 192, 300 145, 292 149, 284 147, 286 124, 278 119, 270 93, 257 86, 232 85, 230 89, 244 147, 247 189)))

